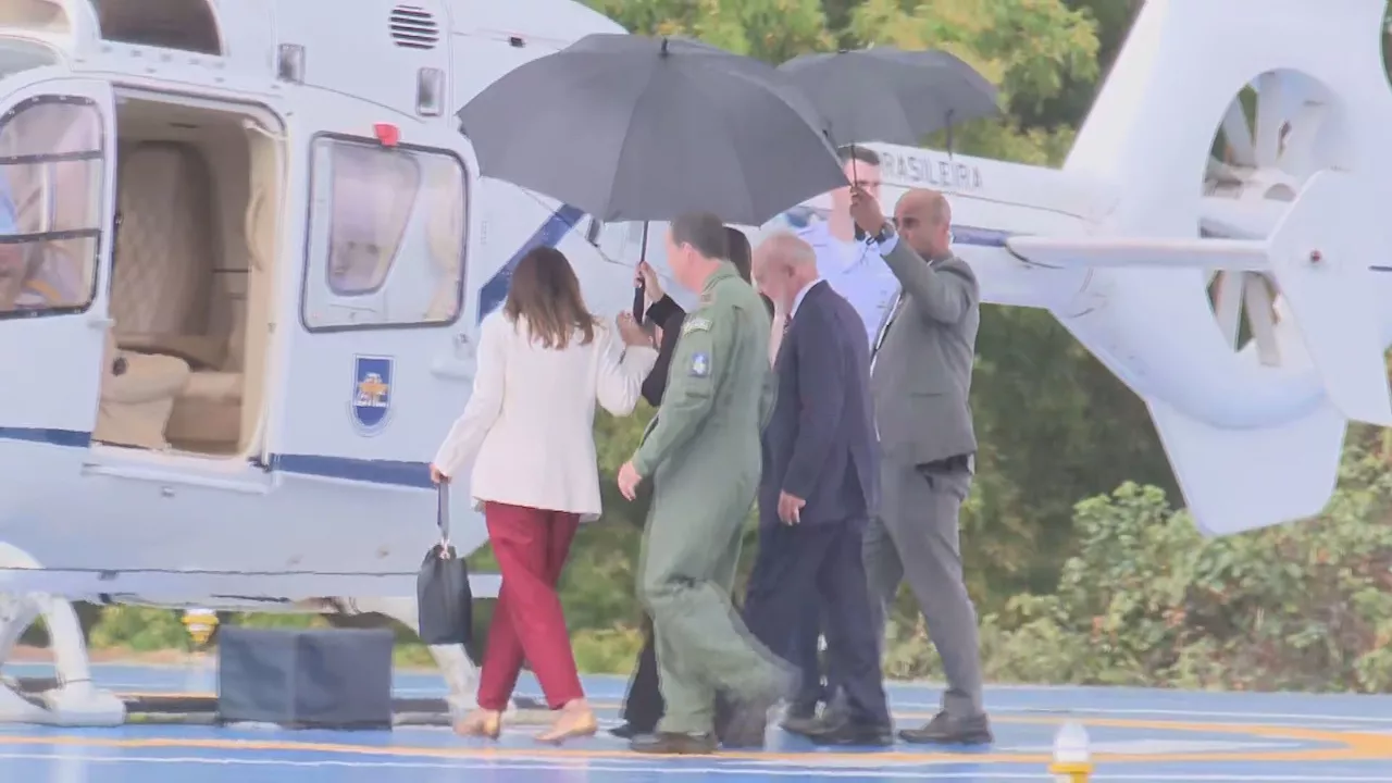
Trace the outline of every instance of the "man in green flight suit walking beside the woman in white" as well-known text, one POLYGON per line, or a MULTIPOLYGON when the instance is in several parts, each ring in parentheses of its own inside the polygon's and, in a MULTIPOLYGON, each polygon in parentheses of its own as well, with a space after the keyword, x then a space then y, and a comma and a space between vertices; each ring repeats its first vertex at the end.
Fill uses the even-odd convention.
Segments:
POLYGON ((668 263, 700 291, 700 307, 682 323, 657 424, 618 472, 629 500, 639 482, 654 482, 638 589, 653 617, 667 712, 656 734, 633 738, 639 752, 713 752, 715 688, 734 704, 725 744, 763 747, 768 709, 792 685, 729 600, 774 389, 768 311, 727 255, 714 215, 671 223, 668 263))

